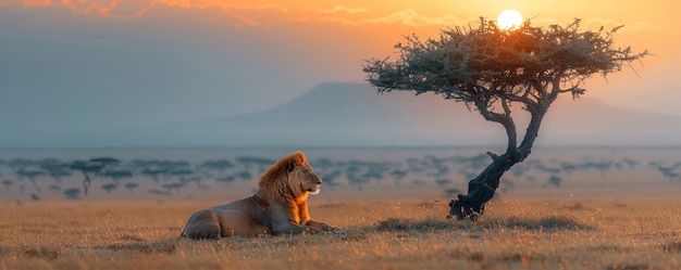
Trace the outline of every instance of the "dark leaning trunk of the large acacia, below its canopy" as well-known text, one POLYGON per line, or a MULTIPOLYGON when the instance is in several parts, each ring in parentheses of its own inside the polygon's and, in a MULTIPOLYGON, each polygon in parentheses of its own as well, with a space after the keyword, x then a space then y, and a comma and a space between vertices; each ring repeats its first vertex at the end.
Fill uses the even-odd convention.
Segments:
MULTIPOLYGON (((451 202, 449 202, 449 215, 447 218, 456 217, 458 220, 470 218, 474 221, 483 214, 484 205, 494 196, 504 172, 509 170, 515 164, 521 163, 530 155, 532 144, 537 137, 540 125, 546 114, 548 104, 550 104, 550 102, 541 106, 540 110, 531 112, 532 118, 520 146, 516 147, 515 141, 511 141, 516 138, 515 126, 512 129, 506 129, 509 138, 509 145, 506 153, 498 156, 487 152, 487 155, 492 157, 492 164, 478 177, 468 182, 468 194, 459 194, 458 200, 451 200, 451 202)), ((510 119, 510 123, 512 124, 512 119, 510 119)))

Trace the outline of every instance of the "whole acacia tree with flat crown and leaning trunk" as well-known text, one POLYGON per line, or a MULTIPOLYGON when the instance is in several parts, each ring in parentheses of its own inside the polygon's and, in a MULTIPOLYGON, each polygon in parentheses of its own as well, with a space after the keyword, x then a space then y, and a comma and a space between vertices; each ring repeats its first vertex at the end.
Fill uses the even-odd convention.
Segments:
POLYGON ((585 92, 582 86, 586 78, 620 72, 648 54, 615 48, 612 35, 619 28, 582 30, 580 20, 574 20, 566 26, 546 28, 525 21, 516 29, 505 30, 481 18, 476 28, 443 30, 436 39, 406 37, 406 43, 395 46, 399 53, 395 61, 372 59, 363 70, 379 93, 406 90, 441 94, 463 102, 484 119, 504 127, 506 153, 487 152, 492 163, 468 182, 468 194, 458 194, 458 200, 449 203, 449 217, 475 220, 494 196, 504 172, 530 155, 542 119, 559 94, 579 98, 585 92), (520 104, 531 117, 520 144, 511 104, 520 104))

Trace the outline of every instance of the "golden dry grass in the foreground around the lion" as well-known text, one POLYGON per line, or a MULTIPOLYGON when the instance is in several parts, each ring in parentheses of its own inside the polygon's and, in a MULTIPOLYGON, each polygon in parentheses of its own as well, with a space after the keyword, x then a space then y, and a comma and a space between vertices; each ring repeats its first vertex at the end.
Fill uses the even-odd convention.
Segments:
POLYGON ((681 200, 311 202, 346 235, 179 240, 203 203, 0 205, 0 269, 681 269, 681 200))

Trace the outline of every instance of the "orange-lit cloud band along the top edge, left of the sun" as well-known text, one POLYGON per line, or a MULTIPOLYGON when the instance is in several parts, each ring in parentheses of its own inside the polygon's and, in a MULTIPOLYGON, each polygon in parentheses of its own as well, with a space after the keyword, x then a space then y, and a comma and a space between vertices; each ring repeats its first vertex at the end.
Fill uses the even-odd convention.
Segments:
POLYGON ((135 20, 159 5, 178 9, 222 10, 236 21, 236 26, 271 26, 272 21, 281 22, 330 22, 343 25, 366 24, 404 24, 408 26, 454 25, 459 23, 454 15, 431 16, 414 10, 399 10, 387 15, 369 14, 369 9, 359 7, 334 5, 332 8, 304 8, 283 4, 252 4, 224 0, 137 0, 134 4, 123 0, 0 0, 2 5, 22 5, 25 8, 66 7, 70 11, 92 18, 135 20), (134 5, 135 8, 126 8, 134 5), (278 16, 272 16, 276 12, 278 16), (286 15, 284 15, 286 13, 286 15))

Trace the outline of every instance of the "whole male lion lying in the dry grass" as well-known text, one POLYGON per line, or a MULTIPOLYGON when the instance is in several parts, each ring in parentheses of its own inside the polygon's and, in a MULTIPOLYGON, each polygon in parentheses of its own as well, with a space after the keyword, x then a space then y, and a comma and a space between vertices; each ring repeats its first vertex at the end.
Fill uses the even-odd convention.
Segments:
POLYGON ((220 239, 234 235, 263 236, 343 230, 310 219, 308 194, 318 194, 322 179, 300 151, 270 167, 258 181, 258 191, 191 214, 181 237, 220 239))

